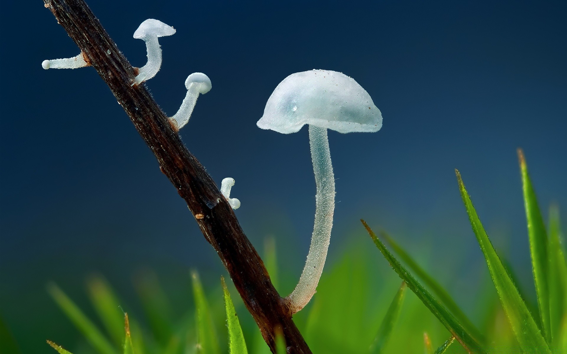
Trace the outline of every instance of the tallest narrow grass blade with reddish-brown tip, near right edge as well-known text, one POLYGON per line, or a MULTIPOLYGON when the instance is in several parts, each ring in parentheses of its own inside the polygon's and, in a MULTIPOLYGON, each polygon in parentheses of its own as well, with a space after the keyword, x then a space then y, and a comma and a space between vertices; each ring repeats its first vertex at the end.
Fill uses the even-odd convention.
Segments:
POLYGON ((524 194, 524 206, 526 208, 526 219, 528 224, 528 237, 530 238, 530 253, 532 260, 532 271, 534 272, 534 283, 536 295, 538 295, 538 308, 541 320, 541 328, 548 343, 551 342, 551 330, 549 319, 549 288, 547 284, 547 234, 543 217, 538 206, 532 186, 526 158, 521 148, 518 148, 518 160, 522 173, 522 186, 524 194))

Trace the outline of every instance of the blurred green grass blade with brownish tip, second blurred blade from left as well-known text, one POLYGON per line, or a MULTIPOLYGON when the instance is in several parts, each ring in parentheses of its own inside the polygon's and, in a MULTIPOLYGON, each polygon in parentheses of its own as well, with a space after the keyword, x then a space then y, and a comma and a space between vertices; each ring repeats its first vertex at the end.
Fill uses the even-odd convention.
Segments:
POLYGON ((110 285, 100 275, 87 280, 88 295, 108 334, 117 347, 122 343, 124 313, 110 285))

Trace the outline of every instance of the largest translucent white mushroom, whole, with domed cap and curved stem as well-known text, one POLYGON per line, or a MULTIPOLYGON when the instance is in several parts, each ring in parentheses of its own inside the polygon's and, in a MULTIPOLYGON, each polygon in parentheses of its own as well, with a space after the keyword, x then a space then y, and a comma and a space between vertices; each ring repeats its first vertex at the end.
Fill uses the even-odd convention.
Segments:
POLYGON ((335 176, 327 129, 340 133, 378 131, 382 127, 382 114, 354 79, 341 72, 311 70, 287 76, 268 99, 264 116, 256 124, 261 129, 283 134, 295 133, 303 125, 309 125, 317 186, 316 210, 305 267, 294 291, 286 297, 291 312, 297 313, 315 294, 333 227, 335 176))

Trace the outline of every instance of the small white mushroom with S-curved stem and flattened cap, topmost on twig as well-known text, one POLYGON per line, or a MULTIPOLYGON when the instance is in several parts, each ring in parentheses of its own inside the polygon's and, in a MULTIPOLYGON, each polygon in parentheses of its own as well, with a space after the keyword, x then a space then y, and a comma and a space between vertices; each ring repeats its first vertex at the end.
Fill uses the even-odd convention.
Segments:
POLYGON ((149 80, 158 73, 162 66, 162 48, 159 46, 159 37, 171 36, 175 33, 175 28, 159 20, 147 19, 139 25, 134 38, 146 42, 147 63, 138 70, 138 75, 134 79, 133 85, 149 80))

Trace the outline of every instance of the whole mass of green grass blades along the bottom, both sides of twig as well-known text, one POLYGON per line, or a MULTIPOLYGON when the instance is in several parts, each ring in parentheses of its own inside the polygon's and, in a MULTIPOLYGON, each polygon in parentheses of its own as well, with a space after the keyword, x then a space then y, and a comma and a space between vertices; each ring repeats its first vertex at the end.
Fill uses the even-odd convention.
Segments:
MULTIPOLYGON (((469 294, 471 298, 482 299, 473 318, 476 325, 450 295, 454 289, 443 288, 435 276, 425 271, 428 265, 418 264, 405 247, 385 232, 380 232, 380 238, 387 240, 399 257, 396 258, 363 222, 375 246, 395 272, 388 270, 367 242, 344 248, 340 259, 325 268, 311 303, 294 315, 294 321, 312 351, 349 354, 512 354, 522 351, 567 354, 567 264, 559 211, 556 206, 550 208, 546 232, 523 155, 520 164, 537 309, 533 306, 530 311, 531 306, 518 291, 515 278, 511 276, 513 269, 506 261, 501 261, 493 248, 457 172, 461 197, 490 273, 490 279, 486 276, 475 293, 469 294), (401 286, 395 273, 403 279, 401 286), (538 280, 541 277, 545 279, 538 280), (406 287, 412 292, 405 291, 406 287)), ((356 233, 356 237, 364 240, 362 230, 356 233)), ((444 254, 433 251, 435 262, 443 264, 444 254)), ((266 239, 263 258, 276 287, 279 288, 281 283, 286 287, 290 285, 289 279, 293 278, 286 278, 285 274, 281 276, 278 270, 277 247, 273 238, 266 239)), ((92 276, 87 282, 87 293, 96 319, 89 318, 88 312, 79 309, 57 285, 50 284, 48 291, 83 335, 78 343, 71 343, 71 352, 75 354, 270 352, 242 300, 235 297, 233 302, 229 288, 234 287, 230 282, 225 284, 222 280, 222 287, 217 285, 207 289, 201 284, 197 272, 188 278, 192 280, 193 292, 185 294, 185 298, 190 304, 192 297, 193 305, 174 309, 154 273, 146 272, 140 276, 136 288, 142 313, 134 311, 131 318, 122 312, 119 296, 100 275, 92 276), (88 343, 88 347, 84 343, 88 343)), ((0 339, 2 344, 7 343, 17 350, 16 344, 10 342, 11 336, 1 318, 0 339)), ((276 340, 278 353, 286 352, 282 340, 280 336, 276 340)), ((70 353, 53 342, 48 343, 60 353, 70 353)), ((0 352, 5 352, 5 346, 0 347, 0 352)))

